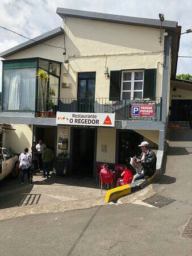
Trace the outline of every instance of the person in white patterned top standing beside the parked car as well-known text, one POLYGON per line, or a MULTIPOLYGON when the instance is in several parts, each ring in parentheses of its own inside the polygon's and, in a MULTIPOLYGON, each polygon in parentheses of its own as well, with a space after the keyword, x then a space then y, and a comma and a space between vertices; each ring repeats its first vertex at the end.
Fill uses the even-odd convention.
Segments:
POLYGON ((24 148, 24 152, 19 156, 19 169, 20 177, 22 179, 22 184, 24 183, 24 174, 27 172, 28 181, 30 181, 30 171, 31 171, 31 154, 28 153, 28 148, 24 148))

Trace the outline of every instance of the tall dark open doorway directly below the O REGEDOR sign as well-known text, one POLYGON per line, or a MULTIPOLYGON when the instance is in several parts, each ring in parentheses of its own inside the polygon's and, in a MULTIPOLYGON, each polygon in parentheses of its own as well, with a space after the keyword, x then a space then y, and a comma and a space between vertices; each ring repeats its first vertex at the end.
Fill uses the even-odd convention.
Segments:
POLYGON ((72 174, 93 177, 94 129, 73 129, 72 174))

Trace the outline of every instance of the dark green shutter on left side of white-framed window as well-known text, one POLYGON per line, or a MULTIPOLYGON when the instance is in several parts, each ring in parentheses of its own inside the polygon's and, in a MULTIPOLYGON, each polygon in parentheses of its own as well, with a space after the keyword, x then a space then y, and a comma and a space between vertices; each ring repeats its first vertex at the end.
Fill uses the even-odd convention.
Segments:
POLYGON ((121 79, 121 71, 111 71, 110 72, 110 91, 109 91, 109 99, 119 100, 120 99, 120 79, 121 79))

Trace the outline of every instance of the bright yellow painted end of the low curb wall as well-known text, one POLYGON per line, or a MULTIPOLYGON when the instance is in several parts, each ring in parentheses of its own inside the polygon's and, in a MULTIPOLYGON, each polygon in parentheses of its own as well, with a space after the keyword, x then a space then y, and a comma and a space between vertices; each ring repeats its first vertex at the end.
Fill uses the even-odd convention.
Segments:
POLYGON ((131 193, 131 186, 129 184, 107 190, 105 201, 107 203, 119 199, 119 197, 127 196, 131 193))

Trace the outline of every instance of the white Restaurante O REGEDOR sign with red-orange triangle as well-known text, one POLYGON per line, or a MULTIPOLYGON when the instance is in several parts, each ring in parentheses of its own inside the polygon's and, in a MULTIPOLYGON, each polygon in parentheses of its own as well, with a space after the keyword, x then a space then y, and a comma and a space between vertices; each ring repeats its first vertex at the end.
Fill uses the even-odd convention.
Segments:
POLYGON ((57 125, 115 126, 115 113, 57 112, 57 125))

